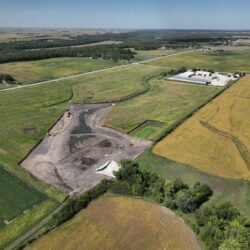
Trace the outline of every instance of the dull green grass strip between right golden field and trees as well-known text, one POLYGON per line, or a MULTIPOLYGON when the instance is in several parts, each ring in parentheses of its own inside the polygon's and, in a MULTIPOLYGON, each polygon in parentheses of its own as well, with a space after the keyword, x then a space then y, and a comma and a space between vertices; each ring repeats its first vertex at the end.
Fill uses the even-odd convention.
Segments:
POLYGON ((157 173, 167 180, 181 178, 189 185, 193 185, 197 181, 207 183, 213 190, 213 196, 206 205, 218 205, 230 201, 243 214, 250 216, 249 182, 228 180, 206 174, 191 166, 157 156, 151 151, 145 152, 138 159, 138 163, 141 169, 157 173))

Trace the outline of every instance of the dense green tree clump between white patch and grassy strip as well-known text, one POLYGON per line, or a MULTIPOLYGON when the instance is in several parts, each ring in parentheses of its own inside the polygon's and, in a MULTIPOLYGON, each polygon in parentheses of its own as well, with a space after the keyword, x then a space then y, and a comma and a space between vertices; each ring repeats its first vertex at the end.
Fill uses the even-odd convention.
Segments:
POLYGON ((146 197, 184 213, 194 212, 213 193, 199 182, 193 188, 178 179, 166 182, 154 173, 140 171, 138 164, 131 161, 124 161, 115 176, 117 180, 111 185, 114 193, 146 197))

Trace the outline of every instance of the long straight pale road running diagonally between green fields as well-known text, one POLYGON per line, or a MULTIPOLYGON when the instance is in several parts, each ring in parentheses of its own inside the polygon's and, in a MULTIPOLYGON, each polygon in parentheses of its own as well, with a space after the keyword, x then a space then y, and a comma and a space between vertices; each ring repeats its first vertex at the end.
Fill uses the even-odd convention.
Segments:
POLYGON ((194 50, 183 51, 183 52, 178 52, 178 53, 171 54, 171 55, 166 55, 166 56, 160 56, 160 57, 156 57, 156 58, 152 58, 152 59, 148 59, 148 60, 144 60, 144 61, 140 61, 140 62, 134 62, 134 63, 131 63, 131 64, 123 64, 123 65, 109 67, 109 68, 105 68, 105 69, 94 70, 94 71, 90 71, 90 72, 86 72, 86 73, 80 73, 80 74, 76 74, 76 75, 65 76, 65 77, 61 77, 61 78, 57 78, 57 79, 53 79, 53 80, 42 81, 42 82, 37 82, 37 83, 31 83, 31 84, 27 84, 27 85, 20 85, 20 86, 16 86, 16 87, 13 87, 13 88, 8 88, 8 89, 1 89, 0 92, 8 92, 8 91, 11 91, 11 90, 29 88, 29 87, 33 87, 33 86, 42 85, 42 84, 48 84, 48 83, 59 82, 59 81, 68 80, 68 79, 72 79, 72 78, 77 78, 77 77, 82 77, 82 76, 87 76, 87 75, 93 75, 93 74, 100 73, 100 72, 105 72, 105 71, 109 71, 109 70, 113 70, 113 69, 119 69, 119 68, 125 68, 125 67, 129 67, 131 65, 139 65, 139 64, 159 60, 161 58, 173 57, 173 56, 186 54, 186 53, 193 52, 193 51, 194 50))

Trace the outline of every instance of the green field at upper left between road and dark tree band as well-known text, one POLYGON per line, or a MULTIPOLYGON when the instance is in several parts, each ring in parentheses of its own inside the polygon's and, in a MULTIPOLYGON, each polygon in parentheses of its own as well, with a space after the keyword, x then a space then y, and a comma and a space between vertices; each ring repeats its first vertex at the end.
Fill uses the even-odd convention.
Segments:
POLYGON ((116 65, 109 60, 62 57, 30 62, 3 63, 0 74, 10 74, 21 84, 51 80, 116 65))

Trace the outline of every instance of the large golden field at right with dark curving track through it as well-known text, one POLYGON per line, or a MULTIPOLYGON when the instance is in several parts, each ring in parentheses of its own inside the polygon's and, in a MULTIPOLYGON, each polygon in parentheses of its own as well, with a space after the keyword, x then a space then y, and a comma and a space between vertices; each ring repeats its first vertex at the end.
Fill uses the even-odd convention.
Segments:
POLYGON ((250 76, 246 76, 173 133, 153 152, 199 170, 250 180, 250 76))

